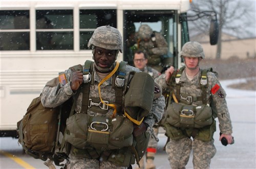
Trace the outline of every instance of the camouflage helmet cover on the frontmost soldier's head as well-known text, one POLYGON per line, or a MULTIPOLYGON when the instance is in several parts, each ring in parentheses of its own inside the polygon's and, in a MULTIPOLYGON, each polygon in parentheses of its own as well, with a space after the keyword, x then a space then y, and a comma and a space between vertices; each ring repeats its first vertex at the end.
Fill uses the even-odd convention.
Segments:
POLYGON ((116 28, 111 26, 98 27, 88 42, 89 49, 93 45, 106 50, 119 50, 122 53, 122 35, 116 28))

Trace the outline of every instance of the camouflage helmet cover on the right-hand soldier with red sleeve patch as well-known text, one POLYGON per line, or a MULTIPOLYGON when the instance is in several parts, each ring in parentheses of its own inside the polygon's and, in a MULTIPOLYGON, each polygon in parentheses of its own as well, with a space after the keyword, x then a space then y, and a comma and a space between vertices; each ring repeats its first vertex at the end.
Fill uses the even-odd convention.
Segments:
POLYGON ((195 41, 186 42, 182 47, 181 56, 204 59, 203 46, 195 41))

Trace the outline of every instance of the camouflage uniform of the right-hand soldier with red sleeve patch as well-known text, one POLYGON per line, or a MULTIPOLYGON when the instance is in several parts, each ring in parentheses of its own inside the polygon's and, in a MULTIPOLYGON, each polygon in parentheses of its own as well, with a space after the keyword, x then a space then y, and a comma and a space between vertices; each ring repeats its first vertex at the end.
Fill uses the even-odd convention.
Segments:
MULTIPOLYGON (((203 58, 203 56, 202 56, 203 58)), ((169 88, 165 81, 166 75, 163 74, 159 78, 156 79, 156 82, 162 87, 162 89, 169 88)), ((180 77, 181 87, 180 94, 185 96, 192 96, 192 98, 198 98, 201 96, 202 90, 200 86, 201 72, 190 81, 185 71, 182 72, 180 77)), ((219 127, 221 133, 229 134, 232 133, 231 120, 227 108, 227 103, 225 100, 226 93, 224 89, 221 87, 221 84, 214 73, 207 72, 208 79, 208 88, 206 89, 207 95, 207 104, 209 104, 212 110, 216 110, 217 117, 219 119, 219 127), (219 86, 217 91, 214 91, 214 88, 219 86)), ((177 93, 176 87, 173 88, 174 94, 177 93)), ((180 100, 182 104, 186 104, 186 102, 180 100)), ((202 101, 193 101, 192 103, 187 103, 191 105, 202 105, 202 101)), ((178 132, 179 138, 172 139, 170 138, 169 142, 166 144, 166 153, 168 154, 168 159, 170 166, 172 168, 185 168, 191 150, 193 150, 193 165, 194 168, 209 168, 210 160, 216 154, 216 148, 214 146, 214 139, 210 141, 203 141, 198 135, 195 136, 193 141, 190 139, 190 136, 193 132, 193 128, 177 128, 172 126, 171 131, 178 132), (186 134, 184 134, 186 133, 186 134)), ((210 128, 208 126, 199 128, 198 133, 203 130, 211 130, 212 136, 216 131, 215 122, 211 125, 210 128)), ((210 133, 210 132, 209 132, 210 133)))

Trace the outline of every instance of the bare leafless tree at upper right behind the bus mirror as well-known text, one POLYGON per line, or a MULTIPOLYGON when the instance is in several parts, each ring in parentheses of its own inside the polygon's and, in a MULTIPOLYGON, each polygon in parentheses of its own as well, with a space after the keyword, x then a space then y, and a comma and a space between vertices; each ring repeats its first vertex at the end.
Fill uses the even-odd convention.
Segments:
MULTIPOLYGON (((217 59, 221 58, 222 33, 237 38, 255 37, 255 1, 198 0, 191 3, 190 9, 188 15, 195 15, 202 11, 215 11, 217 13, 219 22, 217 59)), ((209 34, 208 17, 189 21, 188 24, 191 34, 197 34, 199 31, 200 33, 209 34)))

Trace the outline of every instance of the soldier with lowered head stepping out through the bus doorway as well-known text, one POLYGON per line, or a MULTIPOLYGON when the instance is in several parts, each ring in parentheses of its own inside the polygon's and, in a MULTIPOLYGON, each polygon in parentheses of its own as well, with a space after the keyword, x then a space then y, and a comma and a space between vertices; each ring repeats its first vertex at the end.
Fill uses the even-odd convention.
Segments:
POLYGON ((141 25, 137 38, 137 49, 148 55, 147 65, 161 72, 164 66, 163 57, 168 53, 168 46, 164 37, 153 31, 148 25, 141 25))

